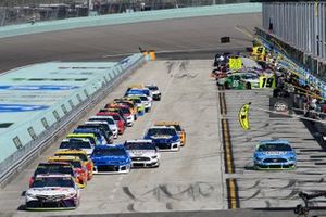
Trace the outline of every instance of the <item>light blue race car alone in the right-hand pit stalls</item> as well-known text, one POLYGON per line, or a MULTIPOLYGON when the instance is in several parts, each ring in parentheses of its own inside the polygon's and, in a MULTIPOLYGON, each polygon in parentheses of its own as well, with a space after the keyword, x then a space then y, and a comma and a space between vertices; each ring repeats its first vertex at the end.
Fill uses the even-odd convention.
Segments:
POLYGON ((287 140, 263 140, 253 154, 255 169, 294 169, 297 156, 287 140))

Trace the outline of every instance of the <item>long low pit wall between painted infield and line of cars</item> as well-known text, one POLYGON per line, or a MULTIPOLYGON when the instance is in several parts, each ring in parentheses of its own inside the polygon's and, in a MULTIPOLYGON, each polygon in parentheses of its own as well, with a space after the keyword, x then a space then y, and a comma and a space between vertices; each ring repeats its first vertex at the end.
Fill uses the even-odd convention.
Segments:
POLYGON ((138 67, 146 62, 142 54, 135 54, 121 61, 114 67, 113 79, 103 80, 105 85, 93 92, 84 102, 78 104, 75 110, 70 111, 64 117, 61 117, 48 130, 37 136, 37 138, 17 150, 10 157, 0 163, 0 188, 5 187, 20 171, 26 168, 37 156, 49 148, 59 138, 76 123, 77 119, 85 116, 92 106, 99 103, 113 88, 123 81, 138 67), (133 60, 134 59, 134 60, 133 60))

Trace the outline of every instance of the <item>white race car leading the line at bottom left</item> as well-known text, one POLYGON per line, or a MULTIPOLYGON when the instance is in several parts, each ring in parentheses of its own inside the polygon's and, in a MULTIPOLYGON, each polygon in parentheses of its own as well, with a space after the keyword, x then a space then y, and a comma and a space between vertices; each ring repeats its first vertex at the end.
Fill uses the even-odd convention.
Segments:
POLYGON ((74 209, 79 205, 79 191, 70 175, 38 175, 25 193, 26 209, 74 209))

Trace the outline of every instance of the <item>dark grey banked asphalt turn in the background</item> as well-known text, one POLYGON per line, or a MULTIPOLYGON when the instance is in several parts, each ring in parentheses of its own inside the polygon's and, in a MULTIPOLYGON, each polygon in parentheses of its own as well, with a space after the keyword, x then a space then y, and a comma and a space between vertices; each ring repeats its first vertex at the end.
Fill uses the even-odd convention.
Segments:
MULTIPOLYGON (((121 54, 138 52, 139 47, 156 51, 243 49, 252 39, 237 28, 252 30, 255 26, 261 26, 259 13, 167 20, 4 38, 0 39, 0 72, 47 61, 112 60, 112 55, 115 55, 115 60, 121 60, 121 54), (223 36, 230 36, 231 43, 221 44, 220 38, 223 36)), ((184 52, 180 53, 179 58, 186 58, 184 52)), ((202 55, 197 56, 202 59, 202 55)), ((165 58, 171 55, 167 53, 165 58)))

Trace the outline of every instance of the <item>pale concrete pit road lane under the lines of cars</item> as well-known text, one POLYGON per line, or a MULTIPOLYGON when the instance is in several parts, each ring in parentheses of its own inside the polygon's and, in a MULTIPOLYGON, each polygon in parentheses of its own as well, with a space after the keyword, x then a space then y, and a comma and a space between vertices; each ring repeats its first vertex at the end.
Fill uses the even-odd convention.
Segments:
MULTIPOLYGON (((116 143, 142 138, 145 130, 154 122, 178 120, 187 132, 185 148, 178 153, 162 153, 161 166, 156 169, 134 169, 127 175, 95 176, 83 190, 80 206, 76 210, 46 212, 41 215, 225 208, 227 202, 224 196, 223 153, 217 133, 217 90, 208 76, 211 65, 211 60, 155 61, 147 63, 126 78, 88 116, 111 100, 122 97, 129 85, 154 82, 161 89, 162 100, 154 102, 151 113, 140 117, 116 143)), ((24 191, 38 162, 47 161, 57 150, 58 143, 0 191, 2 214, 40 215, 22 210, 24 191)))

